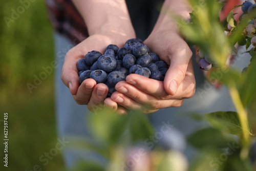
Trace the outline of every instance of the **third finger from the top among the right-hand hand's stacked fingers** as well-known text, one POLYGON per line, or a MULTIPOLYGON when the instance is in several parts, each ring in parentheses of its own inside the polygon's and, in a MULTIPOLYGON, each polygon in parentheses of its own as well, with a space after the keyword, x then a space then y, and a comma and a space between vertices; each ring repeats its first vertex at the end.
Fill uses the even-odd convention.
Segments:
POLYGON ((111 99, 128 110, 138 111, 142 109, 142 104, 119 92, 114 92, 111 99))

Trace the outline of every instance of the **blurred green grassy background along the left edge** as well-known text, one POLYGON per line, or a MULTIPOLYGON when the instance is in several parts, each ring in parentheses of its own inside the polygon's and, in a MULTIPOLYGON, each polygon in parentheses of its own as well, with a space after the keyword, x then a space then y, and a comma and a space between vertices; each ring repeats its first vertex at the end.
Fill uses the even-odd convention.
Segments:
POLYGON ((30 6, 7 26, 19 1, 0 1, 0 137, 3 140, 4 113, 8 112, 8 168, 3 168, 3 143, 0 145, 0 170, 63 169, 61 151, 47 165, 39 157, 57 143, 54 110, 54 73, 30 93, 27 83, 54 60, 53 29, 44 1, 30 6))

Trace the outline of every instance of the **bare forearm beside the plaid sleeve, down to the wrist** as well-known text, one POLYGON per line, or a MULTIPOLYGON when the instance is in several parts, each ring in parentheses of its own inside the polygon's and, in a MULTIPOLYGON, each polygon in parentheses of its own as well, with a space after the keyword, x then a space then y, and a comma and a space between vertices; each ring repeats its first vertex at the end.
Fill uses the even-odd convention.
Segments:
POLYGON ((72 0, 87 25, 89 35, 134 34, 124 0, 72 0))

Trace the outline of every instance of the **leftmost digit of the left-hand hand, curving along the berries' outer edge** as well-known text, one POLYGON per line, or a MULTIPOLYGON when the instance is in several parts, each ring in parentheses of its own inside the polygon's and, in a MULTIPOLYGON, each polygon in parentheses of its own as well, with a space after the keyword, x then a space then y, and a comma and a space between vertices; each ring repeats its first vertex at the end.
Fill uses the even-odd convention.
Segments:
POLYGON ((77 70, 77 61, 83 57, 82 54, 70 50, 63 63, 61 80, 70 89, 72 95, 76 95, 79 87, 79 76, 77 70))

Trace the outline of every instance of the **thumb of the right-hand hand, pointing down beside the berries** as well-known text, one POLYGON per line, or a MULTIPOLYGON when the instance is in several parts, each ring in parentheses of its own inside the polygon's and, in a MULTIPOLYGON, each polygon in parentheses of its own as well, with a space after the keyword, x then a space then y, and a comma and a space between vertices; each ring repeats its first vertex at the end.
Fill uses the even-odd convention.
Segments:
POLYGON ((164 90, 169 95, 175 95, 181 82, 185 78, 187 66, 192 52, 172 55, 170 67, 164 77, 164 90))

